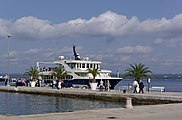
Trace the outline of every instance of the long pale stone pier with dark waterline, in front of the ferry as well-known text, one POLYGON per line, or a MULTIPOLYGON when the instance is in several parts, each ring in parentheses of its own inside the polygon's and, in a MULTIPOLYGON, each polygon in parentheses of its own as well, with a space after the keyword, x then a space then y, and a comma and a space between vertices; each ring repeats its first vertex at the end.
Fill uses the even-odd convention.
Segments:
POLYGON ((161 104, 161 103, 178 103, 182 102, 182 93, 170 93, 170 92, 151 92, 144 94, 133 94, 123 93, 122 91, 104 91, 99 90, 93 91, 90 89, 51 89, 50 87, 11 87, 11 86, 0 86, 0 91, 6 92, 20 92, 29 94, 42 94, 42 95, 55 95, 62 97, 71 98, 82 98, 82 99, 94 99, 94 100, 107 100, 124 102, 126 98, 132 98, 132 103, 138 104, 161 104))

